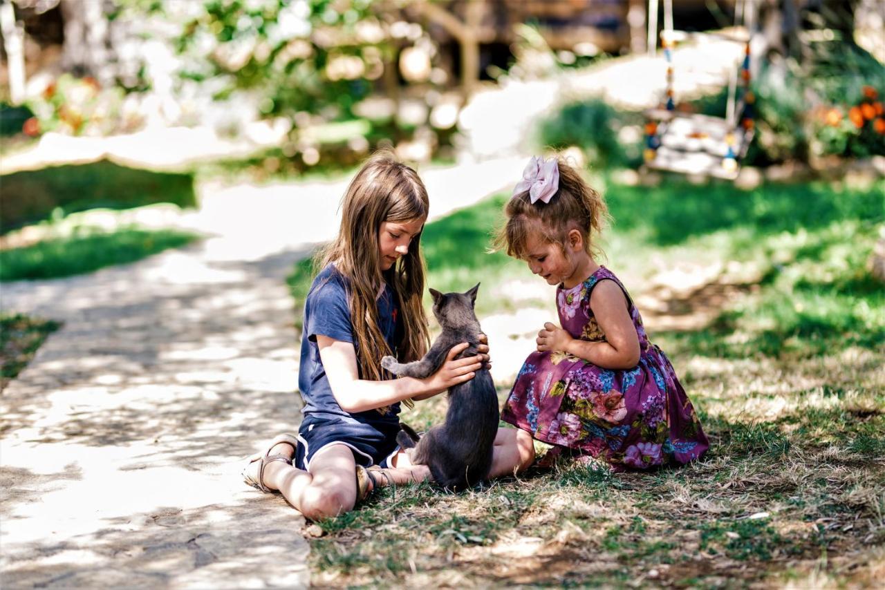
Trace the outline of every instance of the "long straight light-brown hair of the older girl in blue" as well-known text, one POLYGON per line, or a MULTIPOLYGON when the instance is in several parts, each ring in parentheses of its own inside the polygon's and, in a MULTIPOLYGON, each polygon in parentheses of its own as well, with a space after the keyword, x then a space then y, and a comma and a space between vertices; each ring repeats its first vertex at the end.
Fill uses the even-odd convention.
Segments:
POLYGON ((335 268, 349 281, 350 319, 360 379, 384 379, 381 357, 394 355, 379 327, 377 300, 385 281, 396 296, 398 321, 403 326, 401 340, 396 342, 397 360, 408 363, 427 352, 430 335, 421 303, 424 294, 421 235, 415 235, 408 253, 382 272, 378 234, 383 221, 396 223, 427 218, 429 209, 427 188, 418 173, 397 161, 389 150, 378 151, 359 169, 342 198, 338 237, 314 258, 317 268, 335 263, 335 268))

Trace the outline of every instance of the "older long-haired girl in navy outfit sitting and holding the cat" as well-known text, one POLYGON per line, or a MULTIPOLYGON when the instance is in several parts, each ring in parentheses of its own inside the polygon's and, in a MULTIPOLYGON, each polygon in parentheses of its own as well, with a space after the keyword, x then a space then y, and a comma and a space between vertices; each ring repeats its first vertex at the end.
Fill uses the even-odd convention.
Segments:
MULTIPOLYGON (((375 487, 427 479, 427 466, 412 465, 396 445, 400 403, 473 379, 489 360, 487 345, 453 360, 465 342, 426 379, 393 379, 381 368, 383 356, 408 363, 427 351, 420 236, 428 210, 417 172, 389 152, 376 153, 344 195, 338 237, 316 258, 298 376, 304 419, 297 436, 277 437, 243 471, 251 486, 281 492, 305 517, 334 517, 375 487)), ((530 438, 520 447, 518 432, 499 432, 492 475, 534 458, 523 448, 530 438)))

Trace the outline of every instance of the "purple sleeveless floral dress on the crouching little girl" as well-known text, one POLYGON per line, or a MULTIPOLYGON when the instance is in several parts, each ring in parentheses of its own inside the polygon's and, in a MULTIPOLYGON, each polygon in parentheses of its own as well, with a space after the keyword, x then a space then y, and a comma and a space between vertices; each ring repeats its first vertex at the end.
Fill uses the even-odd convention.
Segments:
POLYGON ((673 365, 649 342, 620 280, 600 266, 580 285, 560 286, 559 321, 573 338, 604 341, 590 310, 590 294, 601 280, 613 280, 627 296, 639 336, 639 364, 603 369, 564 352, 534 352, 522 365, 501 418, 538 441, 604 459, 616 471, 689 463, 707 450, 707 437, 673 365))

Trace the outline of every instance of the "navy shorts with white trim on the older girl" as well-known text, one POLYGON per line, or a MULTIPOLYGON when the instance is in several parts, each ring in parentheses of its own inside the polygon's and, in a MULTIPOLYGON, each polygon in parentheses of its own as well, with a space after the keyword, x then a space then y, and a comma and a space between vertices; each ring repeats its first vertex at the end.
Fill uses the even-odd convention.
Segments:
POLYGON ((350 447, 358 465, 389 467, 389 460, 399 450, 399 445, 396 444, 397 432, 399 425, 379 428, 308 415, 298 428, 298 448, 292 464, 307 471, 319 451, 331 445, 342 444, 350 447))

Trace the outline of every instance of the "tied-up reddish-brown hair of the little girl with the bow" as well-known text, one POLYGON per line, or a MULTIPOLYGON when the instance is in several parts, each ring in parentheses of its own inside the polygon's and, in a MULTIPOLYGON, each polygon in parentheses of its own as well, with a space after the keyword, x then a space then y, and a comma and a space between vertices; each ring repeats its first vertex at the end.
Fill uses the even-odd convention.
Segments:
POLYGON ((559 157, 557 163, 559 188, 550 203, 532 203, 527 190, 513 195, 504 207, 507 223, 497 232, 493 249, 526 258, 528 236, 540 234, 545 243, 558 244, 565 251, 567 234, 577 229, 583 235, 584 250, 591 256, 602 254, 596 238, 610 219, 605 200, 566 160, 559 157))

